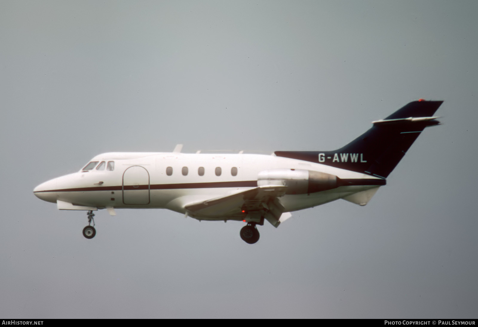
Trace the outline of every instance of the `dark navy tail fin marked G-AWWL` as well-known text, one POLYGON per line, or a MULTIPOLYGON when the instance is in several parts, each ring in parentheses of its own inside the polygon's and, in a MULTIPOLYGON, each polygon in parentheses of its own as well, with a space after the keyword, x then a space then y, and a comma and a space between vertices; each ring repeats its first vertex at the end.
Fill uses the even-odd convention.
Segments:
POLYGON ((386 178, 420 133, 440 122, 433 117, 443 101, 413 101, 335 151, 276 151, 279 157, 311 161, 386 178))

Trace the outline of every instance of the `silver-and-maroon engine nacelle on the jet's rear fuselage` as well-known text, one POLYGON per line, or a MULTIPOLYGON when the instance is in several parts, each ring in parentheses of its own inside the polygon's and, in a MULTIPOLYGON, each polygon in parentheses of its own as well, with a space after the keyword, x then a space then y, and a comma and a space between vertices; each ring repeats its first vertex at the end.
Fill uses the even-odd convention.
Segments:
POLYGON ((339 186, 336 175, 304 169, 272 169, 261 171, 257 185, 287 186, 285 194, 310 194, 339 186))

